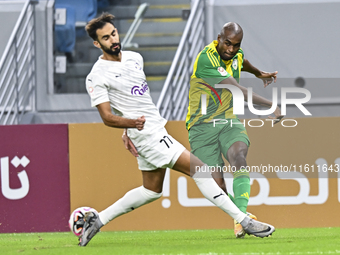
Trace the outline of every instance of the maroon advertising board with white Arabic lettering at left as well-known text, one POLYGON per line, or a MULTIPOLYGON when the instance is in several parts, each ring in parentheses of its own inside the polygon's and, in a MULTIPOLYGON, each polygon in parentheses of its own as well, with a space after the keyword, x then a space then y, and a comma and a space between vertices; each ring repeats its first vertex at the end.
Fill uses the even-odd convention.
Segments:
POLYGON ((0 233, 68 231, 67 125, 0 126, 0 233))

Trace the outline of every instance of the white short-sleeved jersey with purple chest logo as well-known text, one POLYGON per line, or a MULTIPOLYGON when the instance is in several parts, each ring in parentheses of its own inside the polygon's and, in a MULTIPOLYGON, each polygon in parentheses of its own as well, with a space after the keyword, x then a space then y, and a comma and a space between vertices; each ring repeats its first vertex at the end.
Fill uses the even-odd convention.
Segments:
POLYGON ((128 129, 128 136, 135 146, 147 142, 153 131, 164 127, 162 118, 152 102, 143 71, 143 58, 139 53, 121 51, 121 62, 99 57, 86 77, 86 89, 91 97, 91 106, 110 102, 113 111, 127 119, 145 116, 144 129, 128 129))

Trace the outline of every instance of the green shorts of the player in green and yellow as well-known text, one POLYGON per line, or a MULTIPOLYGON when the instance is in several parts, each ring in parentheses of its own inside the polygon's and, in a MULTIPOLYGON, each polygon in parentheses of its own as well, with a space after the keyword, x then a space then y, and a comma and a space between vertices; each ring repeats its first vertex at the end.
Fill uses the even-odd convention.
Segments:
POLYGON ((230 146, 238 141, 250 145, 247 130, 239 119, 200 123, 189 130, 191 152, 208 166, 223 167, 222 155, 228 160, 230 146))

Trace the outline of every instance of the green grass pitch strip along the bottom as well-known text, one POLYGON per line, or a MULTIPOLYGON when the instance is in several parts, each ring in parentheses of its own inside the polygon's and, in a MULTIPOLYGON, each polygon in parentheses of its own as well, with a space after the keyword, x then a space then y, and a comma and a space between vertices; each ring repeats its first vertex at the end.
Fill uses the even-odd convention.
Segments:
POLYGON ((233 230, 98 233, 86 247, 72 233, 0 234, 0 254, 340 254, 340 228, 277 229, 235 239, 233 230))

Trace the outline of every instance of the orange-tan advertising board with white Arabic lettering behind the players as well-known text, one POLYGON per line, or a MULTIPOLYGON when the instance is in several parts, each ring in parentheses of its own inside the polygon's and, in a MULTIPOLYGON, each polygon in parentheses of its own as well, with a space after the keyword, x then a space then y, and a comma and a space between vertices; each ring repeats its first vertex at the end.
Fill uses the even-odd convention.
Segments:
MULTIPOLYGON (((247 127, 252 183, 248 211, 277 228, 340 226, 333 220, 340 209, 340 118, 297 121, 291 129, 247 127)), ((184 122, 168 122, 166 127, 189 149, 184 122)), ((103 124, 69 125, 71 210, 91 206, 101 211, 142 184, 122 132, 103 124), (91 191, 84 196, 87 186, 91 191)), ((232 191, 228 165, 225 178, 232 191)), ((170 171, 162 198, 120 216, 103 230, 222 228, 233 228, 231 218, 207 201, 193 180, 170 171)))

